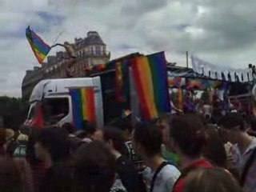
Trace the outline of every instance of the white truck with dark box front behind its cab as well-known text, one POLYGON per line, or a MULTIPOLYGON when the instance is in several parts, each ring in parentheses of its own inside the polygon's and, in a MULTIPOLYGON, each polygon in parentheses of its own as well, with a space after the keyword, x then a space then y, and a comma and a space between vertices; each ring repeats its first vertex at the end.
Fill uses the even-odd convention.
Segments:
POLYGON ((126 101, 118 102, 115 98, 115 68, 114 63, 122 59, 132 58, 140 54, 130 54, 109 63, 106 70, 91 70, 84 78, 54 78, 45 79, 34 87, 30 95, 30 109, 24 126, 35 126, 34 118, 38 114, 38 106, 42 113, 44 125, 62 126, 73 122, 70 87, 94 87, 96 122, 102 127, 114 118, 120 118, 123 110, 133 110, 133 119, 138 114, 138 101, 130 79, 130 95, 126 101), (111 63, 113 65, 111 65, 111 63), (135 113, 136 112, 136 113, 135 113))

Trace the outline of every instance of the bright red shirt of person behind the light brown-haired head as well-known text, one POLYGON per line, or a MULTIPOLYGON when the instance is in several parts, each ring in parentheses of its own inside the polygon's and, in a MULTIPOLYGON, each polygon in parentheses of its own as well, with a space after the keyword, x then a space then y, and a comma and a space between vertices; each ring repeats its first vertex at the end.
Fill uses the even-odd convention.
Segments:
MULTIPOLYGON (((186 174, 188 172, 190 172, 191 170, 194 170, 196 168, 200 168, 200 167, 213 167, 210 162, 207 162, 205 159, 199 160, 197 162, 193 162, 192 164, 190 164, 190 166, 187 166, 187 168, 185 170, 188 170, 186 172, 186 174)), ((182 192, 183 190, 183 186, 185 185, 185 178, 186 178, 186 174, 183 176, 181 176, 180 178, 178 178, 178 181, 175 183, 174 185, 174 190, 173 192, 182 192)))

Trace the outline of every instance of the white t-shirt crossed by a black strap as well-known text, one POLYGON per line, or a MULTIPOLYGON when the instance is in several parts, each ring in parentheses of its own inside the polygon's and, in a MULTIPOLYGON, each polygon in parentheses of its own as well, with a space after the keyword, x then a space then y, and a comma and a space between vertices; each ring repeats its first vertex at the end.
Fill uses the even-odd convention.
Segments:
MULTIPOLYGON (((154 181, 153 192, 170 192, 173 190, 175 182, 178 180, 181 173, 179 170, 172 165, 167 165, 162 168, 158 173, 157 178, 154 181)), ((151 171, 150 167, 146 167, 143 171, 143 177, 146 181, 147 191, 150 191, 150 184, 153 179, 154 172, 151 171)))

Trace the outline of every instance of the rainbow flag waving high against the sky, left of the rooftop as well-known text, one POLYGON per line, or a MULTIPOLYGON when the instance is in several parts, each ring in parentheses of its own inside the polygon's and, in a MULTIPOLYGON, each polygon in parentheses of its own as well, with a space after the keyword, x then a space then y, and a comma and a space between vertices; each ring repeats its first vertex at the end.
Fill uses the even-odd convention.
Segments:
POLYGON ((42 41, 42 38, 38 34, 30 30, 30 26, 26 28, 26 38, 30 42, 31 49, 34 52, 35 57, 38 62, 42 64, 43 60, 46 58, 47 54, 50 52, 50 46, 42 41))

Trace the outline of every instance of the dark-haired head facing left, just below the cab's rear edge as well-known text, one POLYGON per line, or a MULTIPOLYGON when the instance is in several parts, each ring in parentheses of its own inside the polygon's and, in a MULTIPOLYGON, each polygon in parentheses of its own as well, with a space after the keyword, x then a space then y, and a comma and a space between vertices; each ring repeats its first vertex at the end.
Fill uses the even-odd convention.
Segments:
POLYGON ((125 137, 122 130, 114 127, 106 127, 103 130, 103 140, 110 150, 116 150, 122 154, 125 145, 125 137))

